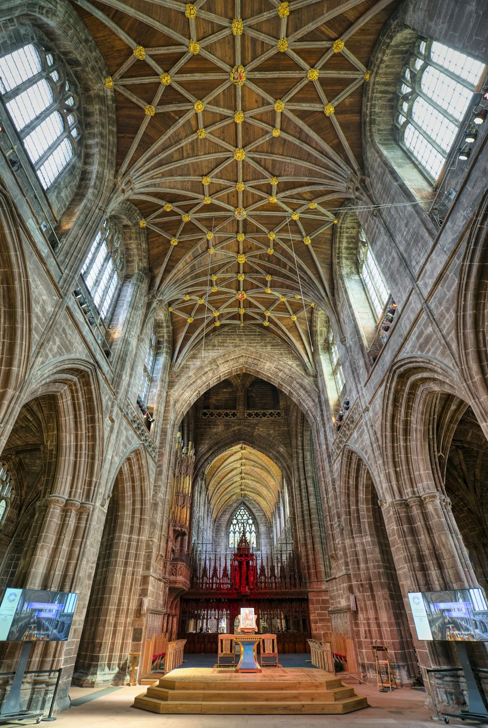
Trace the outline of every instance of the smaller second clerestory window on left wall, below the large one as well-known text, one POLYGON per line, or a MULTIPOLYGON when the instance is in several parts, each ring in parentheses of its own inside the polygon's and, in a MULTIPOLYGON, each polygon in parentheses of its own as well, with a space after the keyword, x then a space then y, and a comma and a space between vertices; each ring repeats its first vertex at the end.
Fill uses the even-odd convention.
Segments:
POLYGON ((124 278, 124 254, 119 229, 105 220, 81 268, 93 302, 108 323, 124 278))

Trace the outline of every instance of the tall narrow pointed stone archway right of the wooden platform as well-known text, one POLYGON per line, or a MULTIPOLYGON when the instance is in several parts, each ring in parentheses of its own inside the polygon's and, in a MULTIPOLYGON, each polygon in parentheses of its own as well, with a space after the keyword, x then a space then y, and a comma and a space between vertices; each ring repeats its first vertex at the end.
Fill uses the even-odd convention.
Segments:
POLYGON ((388 644, 402 677, 417 671, 399 579, 386 531, 381 496, 364 455, 346 446, 340 463, 341 512, 348 545, 351 590, 356 612, 349 612, 361 673, 376 674, 371 644, 388 644))

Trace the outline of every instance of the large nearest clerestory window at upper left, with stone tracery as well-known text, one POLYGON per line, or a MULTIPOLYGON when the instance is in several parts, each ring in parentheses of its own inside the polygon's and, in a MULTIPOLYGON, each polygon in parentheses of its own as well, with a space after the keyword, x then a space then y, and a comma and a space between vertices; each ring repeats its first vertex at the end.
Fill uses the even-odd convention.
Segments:
POLYGON ((58 55, 36 42, 0 58, 0 93, 47 190, 79 153, 76 84, 58 55))

